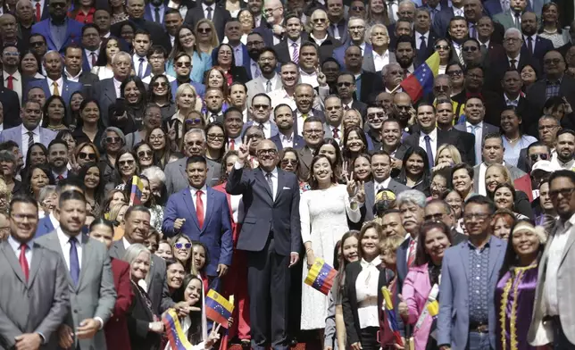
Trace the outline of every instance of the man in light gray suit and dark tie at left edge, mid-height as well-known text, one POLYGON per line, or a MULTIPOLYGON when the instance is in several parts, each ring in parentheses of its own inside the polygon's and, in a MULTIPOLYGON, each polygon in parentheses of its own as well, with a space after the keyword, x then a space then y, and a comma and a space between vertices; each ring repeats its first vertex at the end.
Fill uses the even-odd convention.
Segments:
POLYGON ((21 125, 2 131, 0 133, 0 143, 9 140, 17 143, 21 153, 24 155, 23 161, 26 163, 29 145, 39 142, 47 146, 56 137, 56 133, 51 129, 40 126, 42 106, 35 101, 27 101, 20 110, 20 116, 22 119, 21 125))

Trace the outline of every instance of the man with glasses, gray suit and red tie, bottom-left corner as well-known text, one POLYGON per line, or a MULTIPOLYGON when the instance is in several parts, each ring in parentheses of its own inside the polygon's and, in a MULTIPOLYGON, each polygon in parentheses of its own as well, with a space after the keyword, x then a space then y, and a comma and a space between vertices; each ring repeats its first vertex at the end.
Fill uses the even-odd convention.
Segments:
POLYGON ((16 196, 10 204, 10 237, 0 244, 0 349, 55 350, 52 334, 70 310, 60 256, 32 241, 37 202, 16 196), (28 220, 26 220, 28 219, 28 220), (23 249, 23 251, 22 251, 23 249))

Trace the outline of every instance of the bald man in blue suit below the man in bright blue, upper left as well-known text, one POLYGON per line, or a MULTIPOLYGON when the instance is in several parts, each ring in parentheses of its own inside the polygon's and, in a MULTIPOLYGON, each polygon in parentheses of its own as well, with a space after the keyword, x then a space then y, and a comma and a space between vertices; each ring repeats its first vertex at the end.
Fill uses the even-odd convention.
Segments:
POLYGON ((43 63, 46 78, 29 81, 24 96, 28 96, 32 87, 40 87, 44 90, 46 98, 53 95, 62 96, 66 106, 69 106, 72 94, 76 91, 82 91, 82 84, 70 81, 63 76, 63 60, 57 51, 46 53, 43 63))

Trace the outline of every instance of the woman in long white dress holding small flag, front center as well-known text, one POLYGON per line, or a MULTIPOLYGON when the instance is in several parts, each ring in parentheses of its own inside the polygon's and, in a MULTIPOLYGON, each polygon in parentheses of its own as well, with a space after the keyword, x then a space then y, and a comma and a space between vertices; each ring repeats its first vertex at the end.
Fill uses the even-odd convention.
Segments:
MULTIPOLYGON (((302 241, 305 246, 303 279, 315 258, 333 262, 337 241, 349 230, 347 218, 359 222, 360 206, 365 192, 353 180, 345 185, 337 184, 336 174, 329 158, 324 154, 313 157, 310 167, 311 191, 302 194, 299 215, 302 225, 302 241)), ((325 329, 328 297, 305 285, 302 290, 302 329, 325 329)))

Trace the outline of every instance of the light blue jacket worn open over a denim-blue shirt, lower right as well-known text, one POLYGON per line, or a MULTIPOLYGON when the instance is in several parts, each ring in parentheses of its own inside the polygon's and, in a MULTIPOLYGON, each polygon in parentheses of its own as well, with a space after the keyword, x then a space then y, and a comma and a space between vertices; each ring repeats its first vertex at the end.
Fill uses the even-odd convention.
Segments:
MULTIPOLYGON (((503 265, 507 244, 492 236, 489 241, 489 265, 487 271, 487 306, 489 342, 496 348, 495 290, 499 270, 503 265)), ((467 346, 469 335, 469 254, 468 242, 462 242, 446 250, 441 264, 441 285, 439 286, 439 318, 437 320, 437 344, 450 344, 454 350, 467 346)), ((399 262, 399 255, 397 255, 399 262)))

